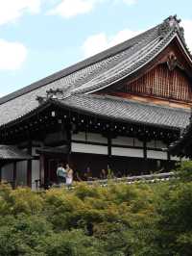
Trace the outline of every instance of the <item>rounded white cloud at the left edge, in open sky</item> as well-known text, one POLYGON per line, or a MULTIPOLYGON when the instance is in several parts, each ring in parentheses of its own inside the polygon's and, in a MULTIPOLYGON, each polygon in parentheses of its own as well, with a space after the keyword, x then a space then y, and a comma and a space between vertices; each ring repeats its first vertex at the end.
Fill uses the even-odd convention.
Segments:
POLYGON ((0 70, 15 70, 21 67, 27 57, 27 49, 20 42, 0 38, 0 70))

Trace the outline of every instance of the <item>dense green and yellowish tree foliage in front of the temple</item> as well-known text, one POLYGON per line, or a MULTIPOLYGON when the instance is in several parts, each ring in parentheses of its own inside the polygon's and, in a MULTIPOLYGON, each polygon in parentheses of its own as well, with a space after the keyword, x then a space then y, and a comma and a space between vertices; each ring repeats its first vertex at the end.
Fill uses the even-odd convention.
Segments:
POLYGON ((2 256, 190 256, 192 164, 151 185, 0 186, 2 256))

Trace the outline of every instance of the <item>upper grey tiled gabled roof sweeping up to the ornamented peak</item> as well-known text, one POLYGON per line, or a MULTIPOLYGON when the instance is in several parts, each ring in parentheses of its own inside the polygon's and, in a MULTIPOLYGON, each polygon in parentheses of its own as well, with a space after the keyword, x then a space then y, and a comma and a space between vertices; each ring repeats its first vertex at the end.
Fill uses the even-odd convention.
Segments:
POLYGON ((35 110, 38 107, 36 96, 45 96, 46 90, 61 89, 66 100, 70 101, 70 98, 74 99, 72 95, 80 95, 81 98, 81 94, 118 82, 150 63, 174 38, 180 40, 191 62, 179 20, 176 16, 170 16, 135 38, 1 98, 0 126, 35 110))

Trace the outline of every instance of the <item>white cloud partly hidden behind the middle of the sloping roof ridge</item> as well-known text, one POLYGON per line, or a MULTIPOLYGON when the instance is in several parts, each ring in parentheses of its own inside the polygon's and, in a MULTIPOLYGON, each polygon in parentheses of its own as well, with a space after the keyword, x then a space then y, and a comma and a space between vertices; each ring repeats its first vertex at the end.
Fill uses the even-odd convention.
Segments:
POLYGON ((122 41, 141 33, 141 31, 132 31, 129 29, 122 30, 112 37, 108 37, 105 33, 90 36, 86 38, 83 45, 84 57, 92 56, 103 50, 108 49, 122 41))

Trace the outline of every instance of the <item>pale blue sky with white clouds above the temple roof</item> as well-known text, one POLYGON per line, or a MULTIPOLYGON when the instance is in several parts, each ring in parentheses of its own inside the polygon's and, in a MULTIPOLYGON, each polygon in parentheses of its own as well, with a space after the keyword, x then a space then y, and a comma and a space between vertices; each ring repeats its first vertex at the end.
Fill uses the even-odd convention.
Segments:
POLYGON ((0 0, 0 96, 178 14, 192 52, 191 0, 0 0))

